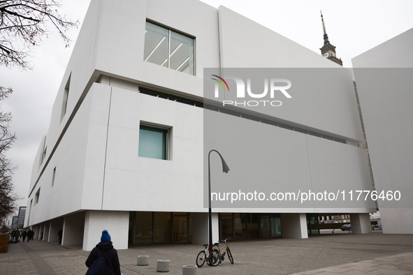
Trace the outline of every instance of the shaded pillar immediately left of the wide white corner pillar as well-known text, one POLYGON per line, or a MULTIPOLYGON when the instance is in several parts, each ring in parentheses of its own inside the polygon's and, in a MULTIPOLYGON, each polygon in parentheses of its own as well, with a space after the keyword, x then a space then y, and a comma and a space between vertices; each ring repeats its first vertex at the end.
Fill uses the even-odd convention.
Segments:
POLYGON ((85 211, 64 217, 62 245, 82 244, 85 230, 85 211))

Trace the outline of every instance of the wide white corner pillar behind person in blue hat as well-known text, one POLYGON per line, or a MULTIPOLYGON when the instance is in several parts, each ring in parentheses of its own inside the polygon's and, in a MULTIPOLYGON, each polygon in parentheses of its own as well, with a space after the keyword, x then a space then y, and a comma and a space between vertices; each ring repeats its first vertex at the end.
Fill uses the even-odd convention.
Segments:
POLYGON ((127 249, 129 211, 86 211, 83 250, 91 251, 99 244, 103 230, 108 230, 116 249, 127 249))

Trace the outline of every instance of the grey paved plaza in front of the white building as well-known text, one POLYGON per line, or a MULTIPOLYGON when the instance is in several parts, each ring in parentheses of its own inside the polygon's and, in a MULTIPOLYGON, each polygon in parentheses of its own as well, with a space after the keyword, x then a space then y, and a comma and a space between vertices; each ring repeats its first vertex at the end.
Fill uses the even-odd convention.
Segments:
MULTIPOLYGON (((233 265, 225 259, 217 267, 198 268, 198 274, 413 274, 413 235, 344 232, 308 239, 230 241, 229 246, 233 265)), ((118 254, 122 274, 160 274, 157 260, 171 261, 168 274, 182 274, 183 265, 195 265, 201 249, 197 244, 152 244, 118 254), (149 255, 150 265, 137 266, 138 255, 149 255)), ((20 241, 0 254, 0 274, 85 274, 87 255, 81 246, 20 241)))

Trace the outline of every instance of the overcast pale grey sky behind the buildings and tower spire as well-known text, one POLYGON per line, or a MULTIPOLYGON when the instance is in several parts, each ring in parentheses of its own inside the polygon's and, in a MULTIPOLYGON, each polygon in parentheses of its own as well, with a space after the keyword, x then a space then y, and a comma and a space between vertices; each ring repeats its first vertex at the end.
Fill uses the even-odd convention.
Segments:
MULTIPOLYGON (((64 0, 61 14, 83 22, 89 0, 64 0)), ((326 31, 335 45, 343 66, 351 67, 351 59, 398 34, 413 28, 411 0, 203 0, 217 8, 226 6, 282 36, 320 54, 323 11, 326 31)), ((15 191, 24 198, 18 205, 27 205, 31 167, 41 141, 48 131, 52 105, 73 50, 78 29, 71 29, 71 47, 65 48, 56 34, 35 47, 33 70, 0 68, 0 85, 13 87, 13 94, 1 108, 13 112, 11 131, 17 141, 8 158, 18 166, 13 181, 15 191)), ((274 45, 276 47, 277 45, 274 45)), ((412 45, 413 50, 413 45, 412 45)), ((403 54, 403 53, 400 53, 403 54)))

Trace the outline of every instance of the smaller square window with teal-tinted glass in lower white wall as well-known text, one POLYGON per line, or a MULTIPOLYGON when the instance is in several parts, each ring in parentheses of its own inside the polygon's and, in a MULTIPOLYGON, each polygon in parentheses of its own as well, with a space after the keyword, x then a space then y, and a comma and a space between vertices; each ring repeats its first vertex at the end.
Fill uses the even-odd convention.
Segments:
POLYGON ((138 156, 168 159, 168 128, 140 125, 138 156))

